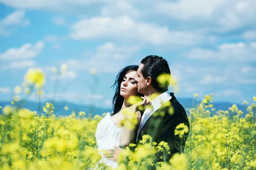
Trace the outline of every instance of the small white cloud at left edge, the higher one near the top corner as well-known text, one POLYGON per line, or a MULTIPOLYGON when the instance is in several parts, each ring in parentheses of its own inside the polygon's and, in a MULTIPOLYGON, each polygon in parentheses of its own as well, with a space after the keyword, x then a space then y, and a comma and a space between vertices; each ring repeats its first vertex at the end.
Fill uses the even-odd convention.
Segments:
POLYGON ((25 11, 15 11, 0 21, 0 35, 9 35, 15 27, 25 27, 29 24, 29 19, 25 18, 25 11))

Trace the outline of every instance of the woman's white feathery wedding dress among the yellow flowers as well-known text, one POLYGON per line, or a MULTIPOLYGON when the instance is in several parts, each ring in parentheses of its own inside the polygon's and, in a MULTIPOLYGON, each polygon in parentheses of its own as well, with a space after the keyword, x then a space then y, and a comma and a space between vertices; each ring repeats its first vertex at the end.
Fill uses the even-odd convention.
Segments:
POLYGON ((108 166, 111 166, 113 169, 117 168, 117 162, 111 161, 103 157, 103 153, 101 152, 101 150, 108 150, 114 148, 114 146, 119 147, 121 132, 122 128, 119 128, 115 125, 109 112, 98 123, 96 129, 96 142, 99 149, 99 153, 102 155, 100 163, 104 163, 108 166))

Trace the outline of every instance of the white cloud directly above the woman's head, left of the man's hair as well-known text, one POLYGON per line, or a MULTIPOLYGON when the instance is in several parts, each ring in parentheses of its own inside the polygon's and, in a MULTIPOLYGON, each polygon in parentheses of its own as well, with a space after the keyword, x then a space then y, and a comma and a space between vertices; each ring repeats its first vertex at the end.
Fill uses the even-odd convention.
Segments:
POLYGON ((125 59, 136 55, 139 46, 117 46, 112 42, 99 45, 96 51, 90 51, 90 59, 70 59, 63 61, 73 70, 89 71, 95 68, 97 72, 116 72, 125 65, 125 59))

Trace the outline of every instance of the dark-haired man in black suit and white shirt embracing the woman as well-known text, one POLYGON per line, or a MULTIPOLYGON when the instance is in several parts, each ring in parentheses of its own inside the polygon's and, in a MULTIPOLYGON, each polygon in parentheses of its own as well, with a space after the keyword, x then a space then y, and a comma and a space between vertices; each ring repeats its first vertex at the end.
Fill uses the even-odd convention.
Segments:
MULTIPOLYGON (((175 154, 184 151, 185 143, 189 132, 184 133, 182 138, 175 135, 175 128, 180 123, 184 123, 189 128, 189 120, 183 106, 177 101, 173 93, 169 93, 169 83, 160 84, 157 77, 161 74, 170 75, 168 62, 163 57, 147 56, 142 59, 137 70, 138 93, 146 96, 154 96, 151 105, 152 109, 146 109, 141 117, 137 134, 133 143, 140 143, 143 135, 149 135, 152 142, 167 142, 170 154, 165 156, 165 160, 161 157, 163 153, 155 156, 154 162, 169 161, 175 154), (171 105, 167 105, 170 103, 171 105), (163 105, 164 104, 164 105, 163 105)), ((116 160, 116 155, 122 149, 115 147, 112 151, 112 160, 116 160)))

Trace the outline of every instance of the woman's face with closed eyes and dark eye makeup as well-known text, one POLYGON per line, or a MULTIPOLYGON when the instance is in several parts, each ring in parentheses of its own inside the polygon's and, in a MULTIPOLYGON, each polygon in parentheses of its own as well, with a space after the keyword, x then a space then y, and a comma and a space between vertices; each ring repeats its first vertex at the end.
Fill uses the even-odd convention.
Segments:
POLYGON ((123 77, 123 81, 120 86, 120 95, 123 97, 137 96, 137 71, 129 71, 123 77))

